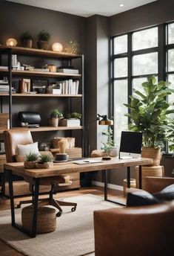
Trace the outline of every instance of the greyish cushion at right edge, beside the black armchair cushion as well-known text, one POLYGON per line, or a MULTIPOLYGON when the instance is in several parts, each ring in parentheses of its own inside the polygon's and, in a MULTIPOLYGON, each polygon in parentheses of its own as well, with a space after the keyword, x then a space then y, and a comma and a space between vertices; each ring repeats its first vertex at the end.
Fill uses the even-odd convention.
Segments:
POLYGON ((174 199, 174 184, 167 186, 158 193, 153 193, 156 199, 161 201, 170 201, 174 199))

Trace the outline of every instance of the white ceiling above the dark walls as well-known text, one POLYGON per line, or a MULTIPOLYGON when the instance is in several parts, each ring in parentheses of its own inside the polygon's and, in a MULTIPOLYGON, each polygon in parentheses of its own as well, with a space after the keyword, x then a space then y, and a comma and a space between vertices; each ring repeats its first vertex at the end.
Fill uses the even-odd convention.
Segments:
POLYGON ((112 16, 156 0, 6 0, 78 16, 112 16), (124 4, 123 7, 120 4, 124 4))

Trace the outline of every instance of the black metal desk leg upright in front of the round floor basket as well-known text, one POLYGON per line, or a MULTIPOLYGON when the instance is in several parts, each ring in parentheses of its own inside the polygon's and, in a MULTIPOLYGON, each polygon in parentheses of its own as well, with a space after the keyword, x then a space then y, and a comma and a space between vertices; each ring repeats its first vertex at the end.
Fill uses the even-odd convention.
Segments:
POLYGON ((37 215, 38 215, 38 199, 39 199, 39 179, 35 179, 34 204, 33 204, 33 225, 31 236, 36 237, 37 215))

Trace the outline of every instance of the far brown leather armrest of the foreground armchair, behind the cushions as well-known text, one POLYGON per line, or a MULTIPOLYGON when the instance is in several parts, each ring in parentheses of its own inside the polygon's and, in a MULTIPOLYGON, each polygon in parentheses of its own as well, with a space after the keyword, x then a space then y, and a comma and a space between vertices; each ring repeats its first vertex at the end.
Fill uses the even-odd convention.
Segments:
POLYGON ((174 178, 170 177, 145 177, 144 178, 144 191, 156 193, 165 187, 172 185, 174 178))

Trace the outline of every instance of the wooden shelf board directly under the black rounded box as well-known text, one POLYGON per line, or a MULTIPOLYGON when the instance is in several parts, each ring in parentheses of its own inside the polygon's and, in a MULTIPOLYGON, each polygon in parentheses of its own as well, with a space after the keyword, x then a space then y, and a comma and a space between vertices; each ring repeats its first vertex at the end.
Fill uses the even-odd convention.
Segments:
MULTIPOLYGON (((12 129, 30 129, 30 132, 49 132, 49 131, 66 131, 70 129, 82 129, 79 127, 39 127, 39 128, 24 128, 24 127, 13 127, 12 129)), ((4 129, 0 129, 0 133, 4 132, 4 129)))

